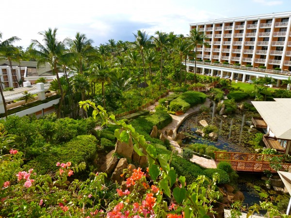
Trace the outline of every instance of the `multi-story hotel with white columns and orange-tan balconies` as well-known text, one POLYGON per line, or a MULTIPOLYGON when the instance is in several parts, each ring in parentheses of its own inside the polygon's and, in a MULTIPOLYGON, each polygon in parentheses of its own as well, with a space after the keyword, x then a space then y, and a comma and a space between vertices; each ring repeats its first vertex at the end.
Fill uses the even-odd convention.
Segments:
MULTIPOLYGON (((193 29, 204 31, 209 44, 197 46, 197 60, 208 60, 197 62, 198 73, 243 82, 269 76, 277 86, 291 75, 291 12, 210 20, 193 29)), ((193 62, 187 65, 193 70, 193 62)))

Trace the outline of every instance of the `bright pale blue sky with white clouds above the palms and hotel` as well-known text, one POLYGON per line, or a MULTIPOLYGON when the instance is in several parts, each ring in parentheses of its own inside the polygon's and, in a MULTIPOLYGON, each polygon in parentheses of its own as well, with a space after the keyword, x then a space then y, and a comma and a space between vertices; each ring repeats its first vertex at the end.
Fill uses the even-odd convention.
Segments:
POLYGON ((291 0, 14 0, 1 9, 3 39, 18 36, 27 47, 37 34, 58 28, 58 38, 77 31, 94 40, 133 41, 132 33, 145 30, 187 34, 189 24, 212 19, 291 11, 291 0))

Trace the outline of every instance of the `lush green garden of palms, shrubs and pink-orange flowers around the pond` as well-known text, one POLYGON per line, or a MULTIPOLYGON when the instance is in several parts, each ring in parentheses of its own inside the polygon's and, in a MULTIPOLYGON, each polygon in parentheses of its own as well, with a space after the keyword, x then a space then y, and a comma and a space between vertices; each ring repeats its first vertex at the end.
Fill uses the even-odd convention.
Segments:
MULTIPOLYGON (((50 90, 60 98, 56 113, 39 119, 7 116, 5 108, 6 119, 0 121, 1 217, 211 217, 222 205, 218 186, 233 182, 236 173, 227 163, 204 169, 190 162, 174 152, 168 140, 150 137, 153 126, 162 129, 172 121, 169 114, 185 112, 207 97, 219 102, 228 94, 228 114, 243 99, 291 97, 288 91, 265 89, 269 78, 247 91, 226 79, 198 76, 196 67, 194 74, 187 73, 181 62, 195 59, 197 45, 207 45, 196 30, 190 36, 137 31, 133 42, 110 39, 98 47, 80 32, 63 41, 57 29, 39 34, 43 40, 32 40, 25 50, 13 46, 18 37, 2 40, 0 34, 0 57, 10 67, 11 61, 20 60, 50 64, 56 75, 50 90), (59 77, 60 70, 64 77, 59 77), (193 91, 210 84, 208 95, 193 91), (161 98, 169 91, 173 93, 161 98), (158 99, 154 111, 144 110, 158 99), (128 111, 133 113, 120 116, 128 111), (113 152, 113 159, 126 158, 132 165, 118 175, 126 181, 123 186, 111 179, 112 171, 101 168, 116 141, 131 143, 139 159, 147 160, 139 165, 113 152)), ((22 82, 16 81, 19 87, 22 82)), ((1 85, 0 93, 5 102, 1 85)), ((26 93, 24 100, 30 97, 26 93)), ((253 109, 249 103, 245 108, 253 109)), ((228 206, 232 217, 241 214, 239 202, 228 206)), ((271 201, 249 207, 248 215, 259 209, 268 210, 270 217, 287 217, 271 201)))

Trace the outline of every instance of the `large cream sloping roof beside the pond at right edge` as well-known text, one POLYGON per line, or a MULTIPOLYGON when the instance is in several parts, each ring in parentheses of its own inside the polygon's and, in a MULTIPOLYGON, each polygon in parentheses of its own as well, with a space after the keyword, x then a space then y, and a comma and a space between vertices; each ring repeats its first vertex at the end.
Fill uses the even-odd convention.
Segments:
POLYGON ((261 117, 278 139, 291 140, 291 98, 252 101, 261 117))

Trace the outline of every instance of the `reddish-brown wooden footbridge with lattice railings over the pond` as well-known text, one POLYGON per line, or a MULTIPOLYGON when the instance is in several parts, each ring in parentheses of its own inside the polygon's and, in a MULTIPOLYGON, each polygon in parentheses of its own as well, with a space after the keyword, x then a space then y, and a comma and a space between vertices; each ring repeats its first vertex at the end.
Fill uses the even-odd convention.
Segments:
MULTIPOLYGON (((238 152, 214 152, 216 161, 226 161, 231 164, 235 171, 244 172, 263 172, 276 170, 272 168, 272 160, 274 157, 282 158, 283 155, 262 155, 262 154, 248 154, 238 152)), ((291 164, 289 163, 274 163, 281 167, 280 171, 291 171, 291 164)), ((273 166, 274 167, 274 166, 273 166)))

